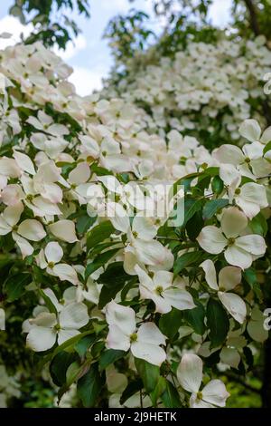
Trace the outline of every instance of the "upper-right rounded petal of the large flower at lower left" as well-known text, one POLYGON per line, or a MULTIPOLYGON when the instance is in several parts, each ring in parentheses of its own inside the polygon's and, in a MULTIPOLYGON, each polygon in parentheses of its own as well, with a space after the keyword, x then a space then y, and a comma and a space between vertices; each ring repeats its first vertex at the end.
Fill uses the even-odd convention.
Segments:
POLYGON ((61 310, 61 328, 79 329, 89 323, 88 308, 81 303, 71 303, 61 310))

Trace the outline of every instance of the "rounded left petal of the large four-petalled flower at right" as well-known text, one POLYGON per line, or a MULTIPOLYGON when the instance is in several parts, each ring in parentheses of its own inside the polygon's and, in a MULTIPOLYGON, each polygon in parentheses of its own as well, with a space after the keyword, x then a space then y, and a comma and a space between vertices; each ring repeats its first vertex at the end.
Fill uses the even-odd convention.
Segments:
POLYGON ((223 236, 220 228, 208 226, 201 229, 197 241, 203 250, 212 255, 218 255, 227 245, 227 239, 223 236))

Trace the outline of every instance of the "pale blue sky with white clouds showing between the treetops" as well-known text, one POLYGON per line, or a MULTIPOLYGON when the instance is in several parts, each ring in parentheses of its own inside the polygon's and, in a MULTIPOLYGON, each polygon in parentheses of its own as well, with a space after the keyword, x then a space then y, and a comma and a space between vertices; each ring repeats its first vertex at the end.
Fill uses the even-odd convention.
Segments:
MULTIPOLYGON (((106 78, 113 66, 113 58, 107 46, 107 40, 102 39, 102 34, 108 21, 118 14, 126 14, 132 7, 128 0, 90 0, 90 19, 83 16, 72 16, 79 24, 81 34, 69 43, 65 51, 58 51, 65 62, 69 63, 74 72, 70 82, 76 86, 80 95, 87 95, 93 90, 102 87, 102 79, 106 78)), ((0 2, 0 34, 8 32, 13 34, 10 39, 0 38, 0 49, 8 44, 19 41, 20 34, 30 34, 32 25, 23 27, 13 16, 8 15, 8 9, 14 0, 0 2)), ((213 24, 224 26, 229 22, 229 8, 231 0, 214 0, 210 9, 210 19, 213 24)), ((133 6, 152 15, 152 0, 135 0, 133 6)), ((158 31, 159 23, 155 20, 154 31, 158 31)), ((57 50, 56 50, 57 51, 57 50)))

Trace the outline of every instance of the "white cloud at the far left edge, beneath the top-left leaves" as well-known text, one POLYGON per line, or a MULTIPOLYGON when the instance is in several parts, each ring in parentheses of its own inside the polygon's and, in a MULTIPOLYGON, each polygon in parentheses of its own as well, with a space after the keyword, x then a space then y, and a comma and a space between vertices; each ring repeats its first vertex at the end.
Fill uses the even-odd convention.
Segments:
POLYGON ((5 16, 0 20, 1 33, 10 33, 10 38, 0 38, 0 49, 14 45, 21 40, 21 34, 27 37, 33 31, 33 24, 23 25, 14 16, 5 16))

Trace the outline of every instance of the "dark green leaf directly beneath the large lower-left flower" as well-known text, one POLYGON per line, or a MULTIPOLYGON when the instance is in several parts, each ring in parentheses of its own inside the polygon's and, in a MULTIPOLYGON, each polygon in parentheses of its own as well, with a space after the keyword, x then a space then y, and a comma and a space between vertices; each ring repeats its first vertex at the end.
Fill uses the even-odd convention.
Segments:
POLYGON ((51 360, 50 373, 52 381, 57 386, 62 386, 66 382, 66 372, 71 363, 77 358, 76 353, 61 351, 51 360))

